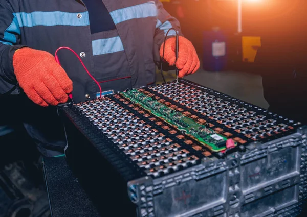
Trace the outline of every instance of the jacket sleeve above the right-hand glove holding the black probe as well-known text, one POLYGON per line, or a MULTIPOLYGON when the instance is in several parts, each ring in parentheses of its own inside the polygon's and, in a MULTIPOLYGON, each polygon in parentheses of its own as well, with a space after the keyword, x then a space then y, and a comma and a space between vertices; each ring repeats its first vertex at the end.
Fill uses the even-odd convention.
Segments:
MULTIPOLYGON (((178 31, 180 36, 183 36, 181 29, 180 29, 180 24, 179 21, 170 16, 169 13, 163 8, 163 4, 160 2, 160 0, 155 0, 156 2, 156 7, 157 7, 157 25, 156 25, 156 33, 154 37, 155 41, 155 47, 154 52, 153 52, 153 60, 156 63, 160 62, 160 47, 164 42, 166 33, 168 32, 169 29, 174 28, 178 31)), ((176 32, 174 30, 170 30, 167 38, 173 37, 176 35, 176 32)))

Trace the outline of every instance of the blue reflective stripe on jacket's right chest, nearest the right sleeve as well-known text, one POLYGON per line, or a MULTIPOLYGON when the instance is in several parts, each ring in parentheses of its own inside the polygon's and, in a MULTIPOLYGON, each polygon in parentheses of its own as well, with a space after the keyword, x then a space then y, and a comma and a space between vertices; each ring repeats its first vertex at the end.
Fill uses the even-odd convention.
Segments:
POLYGON ((148 2, 141 5, 112 11, 110 14, 116 25, 130 19, 155 17, 157 16, 157 8, 155 2, 148 2))

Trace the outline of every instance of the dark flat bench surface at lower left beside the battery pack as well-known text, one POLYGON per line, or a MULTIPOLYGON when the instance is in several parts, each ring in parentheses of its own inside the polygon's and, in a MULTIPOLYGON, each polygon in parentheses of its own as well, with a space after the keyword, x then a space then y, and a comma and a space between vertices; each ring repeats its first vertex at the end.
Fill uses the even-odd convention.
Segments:
POLYGON ((99 217, 70 170, 65 157, 43 160, 52 217, 99 217))

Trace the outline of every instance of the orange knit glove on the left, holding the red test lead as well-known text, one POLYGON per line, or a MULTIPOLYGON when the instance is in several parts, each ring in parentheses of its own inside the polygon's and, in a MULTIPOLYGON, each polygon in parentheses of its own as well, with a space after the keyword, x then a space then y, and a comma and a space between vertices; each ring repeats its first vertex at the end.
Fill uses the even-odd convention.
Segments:
POLYGON ((46 107, 67 102, 73 82, 50 53, 22 48, 14 53, 13 66, 20 87, 34 103, 46 107))

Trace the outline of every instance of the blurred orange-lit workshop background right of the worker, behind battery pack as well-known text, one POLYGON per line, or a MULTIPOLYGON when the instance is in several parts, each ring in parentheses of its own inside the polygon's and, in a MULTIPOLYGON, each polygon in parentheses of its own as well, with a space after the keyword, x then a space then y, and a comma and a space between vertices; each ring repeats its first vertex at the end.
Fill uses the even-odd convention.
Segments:
MULTIPOLYGON (((269 104, 273 110, 306 104, 307 1, 162 2, 202 62, 187 79, 266 109, 269 104)), ((283 115, 292 116, 291 108, 284 110, 283 115)))

